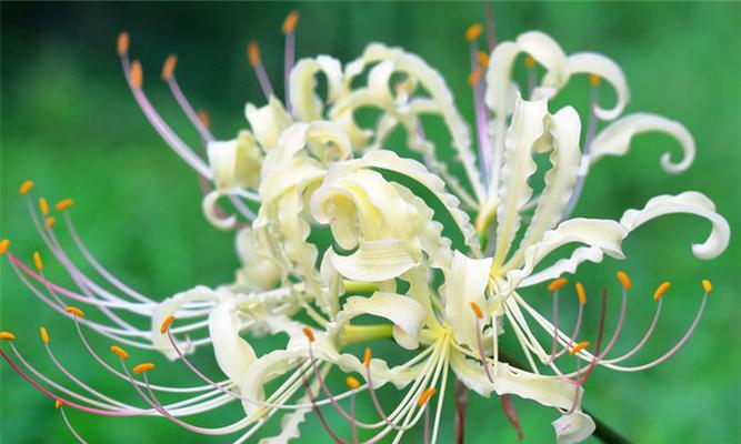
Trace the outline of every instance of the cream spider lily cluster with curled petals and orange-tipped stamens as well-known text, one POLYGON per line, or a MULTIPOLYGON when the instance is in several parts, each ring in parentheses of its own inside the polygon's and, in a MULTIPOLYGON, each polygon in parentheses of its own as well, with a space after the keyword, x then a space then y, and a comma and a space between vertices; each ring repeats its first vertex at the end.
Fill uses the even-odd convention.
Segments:
POLYGON ((595 428, 581 407, 589 375, 598 367, 632 372, 667 360, 692 333, 712 286, 702 282, 697 317, 675 346, 649 363, 625 364, 652 335, 661 296, 670 284, 655 291, 655 316, 640 343, 612 356, 632 287, 630 278, 618 273, 621 310, 614 331, 604 334, 604 290, 598 334, 588 342, 580 336, 588 322, 582 284, 574 286, 574 325, 565 332, 564 322, 559 322, 559 294, 567 285, 562 275, 574 273, 584 262, 600 262, 605 254, 624 259, 622 241, 665 214, 691 213, 712 223, 707 240, 692 245, 702 259, 712 259, 727 248, 730 230, 712 201, 692 191, 653 198, 617 221, 570 219, 570 213, 592 167, 605 157, 628 153, 637 134, 658 131, 674 138, 682 158, 675 161, 667 153, 661 165, 679 173, 694 158, 690 133, 660 115, 623 117, 628 84, 622 70, 604 56, 567 54, 553 39, 537 31, 495 44, 491 26, 488 51, 483 51, 480 41, 487 32, 473 26, 464 36, 470 44, 469 82, 475 105, 472 134, 442 75, 400 48, 372 43, 344 65, 328 56, 294 63, 298 19, 292 12, 283 23, 282 101, 273 91, 257 43, 250 43, 249 62, 267 104, 248 103, 249 129, 231 140, 214 139, 208 115, 191 107, 176 80, 177 59, 167 59, 162 79, 199 131, 206 159, 151 104, 143 90, 141 64, 129 59, 128 34, 118 40, 134 99, 163 140, 202 180, 206 218, 218 229, 236 232, 243 266, 233 283, 217 289, 197 286, 154 301, 127 286, 96 260, 72 224, 71 200, 59 202, 52 215, 46 200, 36 204, 33 182, 21 186, 39 235, 77 289, 47 279, 39 253, 32 266, 11 253, 7 240, 0 243, 2 252, 29 290, 71 317, 92 357, 130 383, 146 406, 111 398, 72 375, 52 353, 43 327, 49 356, 78 389, 37 371, 22 357, 10 332, 0 336, 12 352, 0 349, 2 357, 57 401, 80 441, 66 408, 109 416, 158 415, 196 433, 240 433, 238 443, 249 440, 273 415, 282 416, 282 432, 267 442, 286 442, 299 435, 300 424, 313 411, 339 443, 361 438, 363 443, 399 442, 420 422, 425 442, 435 442, 452 379, 481 396, 499 396, 519 433, 510 395, 559 411, 553 422, 559 443, 588 437, 595 428), (515 80, 520 70, 527 84, 515 80), (573 108, 549 109, 551 99, 582 74, 591 88, 583 140, 582 119, 573 108), (600 101, 605 83, 615 92, 612 107, 600 101), (374 115, 370 125, 360 117, 368 110, 374 115), (601 122, 610 123, 598 132, 601 122), (447 135, 440 139, 445 142, 429 138, 431 128, 444 130, 447 135), (402 148, 389 149, 394 144, 402 148), (445 161, 451 149, 453 159, 445 161), (543 184, 537 186, 533 179, 542 155, 549 157, 550 165, 543 184), (54 218, 87 260, 86 266, 74 263, 63 249, 57 236, 62 223, 54 218), (564 245, 577 248, 553 261, 554 252, 564 245), (106 283, 100 284, 100 279, 106 283), (550 319, 521 295, 523 289, 537 285, 552 293, 550 319), (72 304, 89 305, 106 321, 87 317, 72 304), (131 315, 147 320, 149 326, 137 326, 128 320, 131 315), (112 354, 103 357, 96 351, 86 339, 87 330, 114 341, 112 354), (254 337, 279 334, 289 337, 284 347, 259 354, 251 345, 254 337), (517 340, 527 359, 524 365, 500 351, 501 335, 517 340), (549 340, 542 343, 544 335, 549 340), (372 343, 383 340, 391 340, 403 353, 388 359, 374 354, 372 343), (213 349, 223 381, 213 381, 188 359, 202 346, 213 349), (130 347, 157 350, 180 360, 202 384, 152 384, 149 377, 154 364, 141 363, 130 370, 124 350, 130 347), (117 356, 119 362, 109 363, 117 356), (346 373, 347 387, 332 387, 331 371, 346 373), (382 405, 377 392, 394 389, 402 393, 401 401, 382 405), (183 398, 162 403, 158 393, 183 398), (375 418, 357 417, 354 406, 361 397, 372 403, 375 418), (210 428, 184 420, 232 402, 244 410, 244 416, 233 424, 210 428), (322 411, 327 408, 349 423, 351 436, 341 436, 326 421, 322 411))

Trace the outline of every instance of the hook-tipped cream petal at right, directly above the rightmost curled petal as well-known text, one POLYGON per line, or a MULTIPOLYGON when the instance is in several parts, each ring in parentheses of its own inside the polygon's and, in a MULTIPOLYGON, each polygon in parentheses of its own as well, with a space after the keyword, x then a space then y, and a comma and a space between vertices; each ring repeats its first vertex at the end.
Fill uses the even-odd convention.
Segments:
POLYGON ((664 171, 680 173, 694 161, 694 139, 684 125, 658 114, 640 112, 625 115, 597 134, 591 145, 591 163, 605 155, 624 155, 630 150, 633 138, 647 132, 665 133, 682 147, 682 160, 679 162, 672 162, 669 152, 661 157, 661 167, 664 171))

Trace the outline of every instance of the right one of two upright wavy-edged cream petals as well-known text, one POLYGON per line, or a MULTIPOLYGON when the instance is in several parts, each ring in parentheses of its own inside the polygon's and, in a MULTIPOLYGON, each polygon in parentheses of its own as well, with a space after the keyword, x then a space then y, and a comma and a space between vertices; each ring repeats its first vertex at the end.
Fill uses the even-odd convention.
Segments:
POLYGON ((547 230, 552 229, 563 215, 569 203, 581 160, 579 135, 581 122, 577 111, 569 107, 557 112, 548 124, 551 135, 551 165, 545 173, 545 186, 538 201, 538 206, 528 225, 528 231, 518 252, 510 260, 511 266, 521 264, 524 250, 537 243, 547 230))

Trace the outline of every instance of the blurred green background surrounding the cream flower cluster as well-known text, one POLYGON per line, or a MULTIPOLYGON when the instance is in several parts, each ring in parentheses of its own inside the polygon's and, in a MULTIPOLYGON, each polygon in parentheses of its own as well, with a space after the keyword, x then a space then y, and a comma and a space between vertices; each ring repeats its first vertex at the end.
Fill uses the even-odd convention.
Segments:
MULTIPOLYGON (((1 8, 2 236, 12 240, 13 252, 23 259, 30 260, 34 250, 42 249, 17 194, 18 185, 31 178, 36 191, 52 202, 76 198, 74 219, 93 253, 124 282, 154 299, 196 284, 228 282, 237 259, 232 234, 204 222, 194 174, 158 139, 130 97, 114 52, 121 29, 131 34, 132 57, 142 60, 146 91, 193 144, 197 134, 159 80, 163 59, 170 52, 179 54, 181 87, 198 108, 211 113, 214 133, 231 138, 246 125, 244 102, 263 102, 246 60, 247 41, 260 38, 267 69, 282 90, 278 80, 282 74, 280 26, 291 9, 301 11, 299 57, 328 53, 349 61, 374 40, 403 46, 441 70, 458 105, 472 121, 463 32, 483 19, 484 8, 478 2, 2 2, 1 8)), ((699 190, 717 202, 735 231, 729 250, 705 262, 691 254, 690 243, 704 240, 709 224, 697 218, 672 216, 631 236, 625 243, 625 263, 608 261, 580 271, 579 279, 588 289, 613 285, 618 268, 633 276, 640 291, 631 296, 620 350, 629 350, 648 326, 653 289, 664 280, 672 281, 658 334, 640 362, 667 350, 683 334, 700 302, 700 279, 712 280, 715 287, 689 347, 651 371, 597 372, 587 383, 584 405, 637 442, 739 442, 739 3, 497 3, 494 10, 500 40, 540 29, 567 52, 608 54, 628 75, 633 92, 629 112, 668 115, 694 134, 697 160, 681 175, 661 171, 663 151, 679 154, 675 143, 661 135, 641 137, 629 155, 602 161, 592 170, 577 214, 619 218, 653 195, 699 190)), ((574 80, 573 87, 558 103, 573 101, 583 110, 587 80, 574 80)), ((57 264, 47 262, 49 275, 69 282, 57 264)), ((38 340, 37 329, 43 324, 54 352, 70 370, 104 392, 136 402, 126 383, 110 377, 84 353, 71 323, 24 290, 7 263, 0 266, 0 327, 17 334, 16 344, 34 365, 64 381, 38 340)), ((542 289, 530 292, 529 297, 550 310, 542 289)), ((104 347, 108 342, 94 344, 104 347)), ((269 346, 261 345, 261 350, 269 346)), ((136 353, 134 360, 146 359, 146 353, 136 353)), ((179 364, 149 359, 162 369, 152 375, 157 382, 198 383, 179 364)), ((208 350, 196 360, 218 375, 208 350)), ((3 444, 73 442, 52 401, 22 383, 4 363, 0 375, 3 444)), ((452 441, 450 398, 440 442, 452 441)), ((515 406, 525 442, 552 442, 549 423, 558 416, 555 412, 522 400, 515 400, 515 406)), ((226 424, 240 413, 232 405, 196 421, 226 424)), ((69 414, 92 443, 207 441, 158 418, 69 414)), ((371 412, 362 407, 361 414, 370 417, 371 412)), ((266 432, 274 432, 276 423, 266 432)), ((467 442, 514 441, 495 400, 472 396, 468 424, 467 442)), ((408 441, 421 442, 419 432, 408 441)), ((302 426, 300 442, 312 441, 329 441, 313 417, 302 426)))

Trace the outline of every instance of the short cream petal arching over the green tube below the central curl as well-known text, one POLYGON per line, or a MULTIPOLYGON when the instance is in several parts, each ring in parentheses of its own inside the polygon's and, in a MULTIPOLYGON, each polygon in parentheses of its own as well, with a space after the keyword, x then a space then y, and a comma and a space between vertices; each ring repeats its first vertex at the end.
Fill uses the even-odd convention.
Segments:
POLYGON ((338 313, 338 327, 361 315, 384 317, 391 321, 405 335, 400 335, 399 345, 414 350, 419 345, 419 333, 427 316, 422 305, 412 297, 403 294, 375 292, 370 297, 348 297, 342 311, 338 313), (409 336, 409 337, 407 337, 409 336), (407 340, 411 339, 411 342, 407 340))

